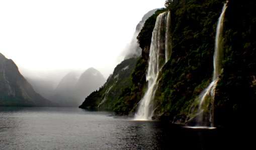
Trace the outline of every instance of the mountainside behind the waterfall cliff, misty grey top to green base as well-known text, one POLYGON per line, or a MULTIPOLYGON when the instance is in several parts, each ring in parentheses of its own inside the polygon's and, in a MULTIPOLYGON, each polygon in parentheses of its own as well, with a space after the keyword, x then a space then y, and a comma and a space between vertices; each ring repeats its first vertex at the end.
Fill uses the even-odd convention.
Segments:
MULTIPOLYGON (((157 9, 148 11, 137 24, 133 38, 128 46, 124 60, 118 64, 113 73, 108 77, 107 82, 99 89, 92 92, 79 106, 80 108, 86 109, 109 109, 113 110, 115 104, 120 103, 122 100, 119 96, 125 94, 127 90, 132 88, 132 76, 136 76, 139 73, 134 72, 136 67, 144 67, 146 61, 136 63, 137 60, 141 59, 142 49, 137 43, 137 36, 142 29, 146 19, 151 16, 157 9), (134 73, 133 73, 134 72, 134 73)), ((134 103, 134 100, 129 101, 134 103)), ((117 108, 115 108, 117 110, 117 108)))

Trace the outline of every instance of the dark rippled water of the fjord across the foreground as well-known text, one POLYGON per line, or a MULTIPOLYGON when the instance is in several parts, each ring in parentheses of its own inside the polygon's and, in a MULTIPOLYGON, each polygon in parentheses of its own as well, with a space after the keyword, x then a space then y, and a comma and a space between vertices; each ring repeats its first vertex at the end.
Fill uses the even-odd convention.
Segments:
POLYGON ((132 121, 79 108, 0 107, 0 149, 230 149, 255 142, 255 136, 242 140, 241 133, 132 121))

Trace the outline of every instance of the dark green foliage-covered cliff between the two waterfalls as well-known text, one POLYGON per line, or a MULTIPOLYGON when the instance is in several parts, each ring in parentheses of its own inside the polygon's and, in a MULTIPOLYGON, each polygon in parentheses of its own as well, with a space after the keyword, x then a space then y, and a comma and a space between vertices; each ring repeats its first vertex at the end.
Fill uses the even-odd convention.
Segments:
POLYGON ((219 0, 174 0, 171 12, 172 56, 163 66, 155 96, 156 115, 169 120, 189 114, 191 105, 211 81, 219 0))

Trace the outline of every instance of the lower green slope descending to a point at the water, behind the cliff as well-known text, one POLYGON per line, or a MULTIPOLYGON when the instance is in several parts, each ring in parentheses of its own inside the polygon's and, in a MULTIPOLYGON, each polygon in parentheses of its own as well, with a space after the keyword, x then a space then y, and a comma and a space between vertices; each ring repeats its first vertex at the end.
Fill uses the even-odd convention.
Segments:
POLYGON ((132 84, 131 73, 137 58, 122 61, 116 66, 107 82, 97 91, 92 92, 79 106, 87 109, 110 109, 117 102, 121 91, 132 84), (105 98, 105 100, 104 100, 105 98), (104 100, 103 103, 101 103, 104 100))

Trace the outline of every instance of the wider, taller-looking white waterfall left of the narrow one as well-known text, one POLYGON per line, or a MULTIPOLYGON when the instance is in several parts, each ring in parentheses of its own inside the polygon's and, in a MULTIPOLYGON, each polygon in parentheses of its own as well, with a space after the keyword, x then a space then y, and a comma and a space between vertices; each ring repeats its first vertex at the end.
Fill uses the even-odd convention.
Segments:
POLYGON ((160 13, 155 22, 152 32, 148 68, 146 80, 148 81, 147 91, 139 102, 138 110, 135 114, 135 120, 151 120, 153 115, 153 98, 157 89, 157 77, 159 70, 168 60, 171 43, 169 35, 170 12, 160 13))

